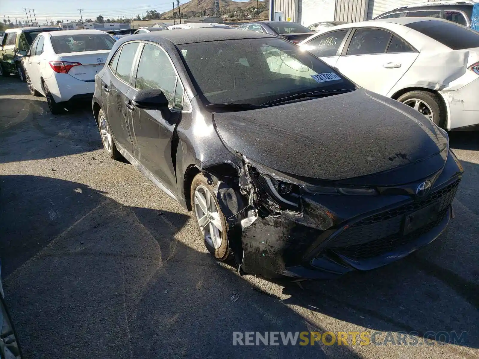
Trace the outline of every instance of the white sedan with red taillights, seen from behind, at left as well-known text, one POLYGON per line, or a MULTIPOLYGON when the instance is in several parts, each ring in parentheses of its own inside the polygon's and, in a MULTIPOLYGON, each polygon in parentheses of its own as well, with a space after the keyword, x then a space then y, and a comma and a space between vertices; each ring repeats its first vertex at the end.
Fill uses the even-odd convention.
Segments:
POLYGON ((103 65, 115 39, 99 30, 67 30, 41 33, 23 57, 30 92, 44 95, 54 114, 63 112, 68 101, 91 99, 95 75, 103 65))

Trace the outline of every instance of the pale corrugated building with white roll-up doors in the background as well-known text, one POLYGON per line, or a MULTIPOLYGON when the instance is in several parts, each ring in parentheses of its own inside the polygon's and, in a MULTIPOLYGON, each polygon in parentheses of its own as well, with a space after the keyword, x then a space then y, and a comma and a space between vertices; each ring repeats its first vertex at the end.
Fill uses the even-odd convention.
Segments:
POLYGON ((399 6, 435 0, 270 0, 270 20, 294 21, 304 26, 321 21, 371 20, 399 6))

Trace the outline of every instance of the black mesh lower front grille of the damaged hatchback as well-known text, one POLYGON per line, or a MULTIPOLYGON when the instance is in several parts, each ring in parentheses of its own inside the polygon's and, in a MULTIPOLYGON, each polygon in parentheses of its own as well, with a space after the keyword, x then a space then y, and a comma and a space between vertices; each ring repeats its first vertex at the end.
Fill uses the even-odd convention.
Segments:
POLYGON ((388 211, 374 214, 356 222, 333 238, 327 248, 352 259, 373 258, 410 243, 414 239, 429 232, 445 217, 460 180, 435 191, 421 202, 411 202, 388 211), (402 234, 406 215, 433 205, 438 213, 432 222, 407 235, 402 234))

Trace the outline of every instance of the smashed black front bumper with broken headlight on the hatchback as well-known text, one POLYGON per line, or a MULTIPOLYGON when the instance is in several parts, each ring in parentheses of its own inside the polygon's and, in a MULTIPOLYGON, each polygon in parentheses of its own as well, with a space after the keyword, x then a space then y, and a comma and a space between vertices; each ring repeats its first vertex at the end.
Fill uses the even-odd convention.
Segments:
POLYGON ((375 269, 432 242, 449 223, 462 167, 451 153, 421 200, 406 193, 407 186, 374 195, 364 195, 364 189, 363 194, 350 189, 352 195, 347 189, 318 193, 266 171, 243 158, 234 185, 231 178, 210 175, 227 218, 229 246, 241 273, 303 280, 375 269), (280 178, 286 187, 272 188, 268 178, 280 178), (278 193, 288 192, 288 184, 299 191, 278 193))

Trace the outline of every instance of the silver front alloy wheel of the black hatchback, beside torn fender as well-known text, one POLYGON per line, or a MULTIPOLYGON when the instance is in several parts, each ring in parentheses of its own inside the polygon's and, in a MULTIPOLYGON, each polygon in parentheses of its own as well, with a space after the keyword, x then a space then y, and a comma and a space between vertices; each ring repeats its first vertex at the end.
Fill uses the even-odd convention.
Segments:
POLYGON ((221 247, 222 225, 219 210, 215 198, 205 186, 199 185, 194 191, 194 212, 205 241, 215 249, 221 247))

